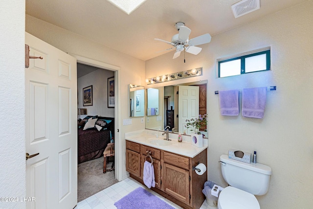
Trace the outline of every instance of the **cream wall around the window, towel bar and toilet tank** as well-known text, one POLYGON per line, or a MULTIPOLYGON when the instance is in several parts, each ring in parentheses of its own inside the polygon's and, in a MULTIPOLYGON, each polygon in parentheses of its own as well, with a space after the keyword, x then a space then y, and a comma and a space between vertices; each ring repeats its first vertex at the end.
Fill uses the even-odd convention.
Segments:
POLYGON ((213 36, 200 54, 186 53, 186 63, 183 56, 173 60, 174 52, 146 61, 147 78, 203 67, 197 79, 208 80, 208 179, 226 186, 218 161, 228 149, 257 151, 258 162, 272 168, 268 193, 257 197, 262 209, 313 206, 312 20, 310 0, 213 36), (270 71, 217 78, 216 59, 265 46, 271 46, 270 71), (277 91, 268 92, 263 119, 244 118, 241 111, 220 116, 214 91, 273 85, 277 91))

